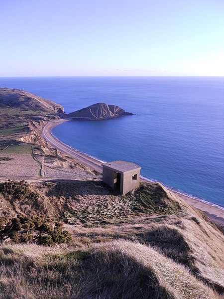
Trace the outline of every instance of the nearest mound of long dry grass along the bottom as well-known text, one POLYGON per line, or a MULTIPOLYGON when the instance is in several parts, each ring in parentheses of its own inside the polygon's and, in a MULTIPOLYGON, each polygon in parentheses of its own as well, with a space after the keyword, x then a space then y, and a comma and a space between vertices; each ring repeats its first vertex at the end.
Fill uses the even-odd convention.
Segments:
POLYGON ((183 266, 130 241, 83 247, 4 246, 1 298, 215 299, 183 266))

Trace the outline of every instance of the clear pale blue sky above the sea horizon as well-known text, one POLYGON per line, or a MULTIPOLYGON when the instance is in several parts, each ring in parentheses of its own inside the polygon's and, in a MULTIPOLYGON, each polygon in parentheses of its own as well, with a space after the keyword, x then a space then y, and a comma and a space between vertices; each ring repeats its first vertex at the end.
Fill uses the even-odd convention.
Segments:
POLYGON ((224 76, 224 0, 0 0, 0 77, 224 76))

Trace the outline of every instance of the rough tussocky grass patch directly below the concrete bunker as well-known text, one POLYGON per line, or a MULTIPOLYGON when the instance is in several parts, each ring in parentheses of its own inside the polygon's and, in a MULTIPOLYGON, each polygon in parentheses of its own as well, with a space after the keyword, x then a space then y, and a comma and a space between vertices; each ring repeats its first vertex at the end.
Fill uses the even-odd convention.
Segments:
POLYGON ((131 193, 118 195, 102 181, 54 181, 42 192, 70 224, 114 223, 143 214, 182 214, 180 204, 168 198, 158 183, 142 184, 131 193))

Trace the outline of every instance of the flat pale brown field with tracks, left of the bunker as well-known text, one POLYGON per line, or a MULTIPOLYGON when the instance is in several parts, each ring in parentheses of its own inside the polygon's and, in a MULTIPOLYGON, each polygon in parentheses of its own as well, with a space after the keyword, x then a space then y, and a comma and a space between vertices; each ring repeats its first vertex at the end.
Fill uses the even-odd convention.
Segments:
POLYGON ((84 167, 74 159, 65 159, 54 150, 50 155, 35 146, 24 144, 10 145, 0 151, 0 178, 22 180, 39 177, 99 178, 88 167, 84 167))

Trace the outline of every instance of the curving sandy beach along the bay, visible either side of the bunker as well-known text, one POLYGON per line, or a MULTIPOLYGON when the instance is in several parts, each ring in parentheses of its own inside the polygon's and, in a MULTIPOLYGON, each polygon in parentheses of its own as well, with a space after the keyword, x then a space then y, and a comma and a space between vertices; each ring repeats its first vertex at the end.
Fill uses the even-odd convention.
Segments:
MULTIPOLYGON (((70 147, 64 145, 62 142, 57 140, 52 134, 51 129, 66 122, 68 120, 57 120, 54 122, 48 123, 43 129, 42 129, 42 136, 43 138, 54 148, 65 152, 69 154, 70 156, 78 159, 81 163, 89 166, 90 168, 101 172, 102 173, 102 162, 89 157, 88 155, 85 155, 75 149, 71 149, 70 147)), ((195 198, 191 198, 189 196, 180 194, 178 192, 172 191, 173 193, 176 193, 178 196, 180 196, 182 199, 184 199, 187 203, 193 205, 194 207, 198 208, 199 210, 205 212, 213 221, 224 225, 224 210, 215 206, 212 206, 210 204, 207 204, 203 201, 197 200, 195 198)))

